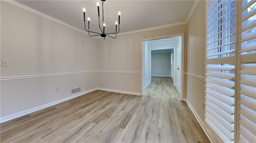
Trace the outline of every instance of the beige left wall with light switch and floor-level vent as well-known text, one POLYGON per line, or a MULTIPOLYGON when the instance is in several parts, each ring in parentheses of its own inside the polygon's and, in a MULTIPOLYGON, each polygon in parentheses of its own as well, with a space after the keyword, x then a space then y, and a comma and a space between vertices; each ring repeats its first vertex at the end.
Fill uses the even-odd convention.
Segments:
MULTIPOLYGON (((97 39, 1 1, 1 78, 98 69, 97 39)), ((1 81, 1 118, 97 88, 97 72, 1 81), (56 93, 56 88, 59 92, 56 93)))

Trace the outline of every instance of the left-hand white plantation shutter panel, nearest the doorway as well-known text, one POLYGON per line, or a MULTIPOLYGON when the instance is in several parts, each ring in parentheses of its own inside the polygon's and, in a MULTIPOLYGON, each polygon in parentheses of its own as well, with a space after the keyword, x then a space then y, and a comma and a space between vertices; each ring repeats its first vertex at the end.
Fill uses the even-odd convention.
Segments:
POLYGON ((234 142, 236 1, 206 4, 205 124, 222 142, 234 142))

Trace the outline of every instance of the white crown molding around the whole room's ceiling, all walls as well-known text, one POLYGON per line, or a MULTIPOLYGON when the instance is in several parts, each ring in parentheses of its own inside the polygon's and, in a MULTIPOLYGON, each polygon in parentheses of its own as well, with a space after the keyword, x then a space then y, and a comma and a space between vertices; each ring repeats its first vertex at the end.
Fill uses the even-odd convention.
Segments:
MULTIPOLYGON (((30 7, 28 7, 28 6, 25 6, 25 5, 23 5, 23 4, 20 4, 19 2, 16 2, 16 1, 14 1, 14 0, 1 0, 1 1, 6 2, 6 3, 8 3, 8 4, 12 4, 13 6, 16 6, 16 7, 18 7, 18 8, 21 8, 21 9, 23 9, 23 10, 26 10, 26 11, 28 11, 28 12, 31 12, 31 13, 33 13, 33 14, 36 14, 36 15, 41 16, 41 17, 43 17, 43 18, 46 18, 46 19, 48 19, 48 20, 52 20, 53 22, 56 22, 56 23, 58 23, 58 24, 64 25, 64 26, 66 26, 66 27, 69 27, 69 28, 74 29, 74 30, 76 30, 76 31, 78 31, 78 32, 81 32, 81 33, 84 33, 84 34, 88 35, 88 33, 87 33, 86 31, 84 31, 84 30, 81 30, 81 29, 79 29, 79 28, 77 28, 77 27, 74 27, 74 26, 72 26, 72 25, 69 25, 69 24, 67 24, 67 23, 65 23, 65 22, 62 22, 62 21, 56 19, 56 18, 53 18, 53 17, 51 17, 51 16, 48 16, 47 14, 44 14, 44 13, 42 13, 42 12, 39 12, 39 11, 37 11, 37 10, 34 10, 33 8, 30 8, 30 7)), ((166 24, 166 25, 161 25, 161 26, 156 26, 156 27, 150 27, 150 28, 145 28, 145 29, 139 29, 139 30, 134 30, 134 31, 122 32, 122 33, 118 33, 117 35, 127 35, 127 34, 133 34, 133 33, 139 33, 139 32, 145 32, 145 31, 151 31, 151 30, 156 30, 156 29, 162 29, 162 28, 167 28, 167 27, 173 27, 173 26, 178 26, 178 25, 187 24, 188 21, 190 20, 191 16, 192 16, 192 14, 194 13, 194 10, 196 9, 196 6, 198 5, 198 3, 199 3, 199 0, 195 0, 195 2, 194 2, 193 6, 192 6, 192 8, 191 8, 191 10, 190 10, 190 12, 189 12, 189 14, 188 14, 188 17, 186 18, 186 21, 183 21, 183 22, 176 22, 176 23, 166 24)), ((102 37, 98 37, 98 36, 97 36, 97 37, 94 37, 94 38, 96 38, 96 39, 101 39, 102 37)))

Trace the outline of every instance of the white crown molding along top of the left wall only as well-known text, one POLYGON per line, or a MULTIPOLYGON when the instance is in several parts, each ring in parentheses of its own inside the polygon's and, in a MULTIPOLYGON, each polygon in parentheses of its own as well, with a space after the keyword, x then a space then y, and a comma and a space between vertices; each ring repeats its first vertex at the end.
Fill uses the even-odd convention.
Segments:
POLYGON ((23 4, 20 4, 20 3, 16 2, 16 1, 14 1, 14 0, 2 0, 2 1, 3 1, 3 2, 6 2, 6 3, 8 3, 8 4, 12 4, 13 6, 16 6, 16 7, 18 7, 18 8, 21 8, 21 9, 23 9, 23 10, 26 10, 26 11, 28 11, 28 12, 31 12, 31 13, 33 13, 33 14, 36 14, 36 15, 41 16, 41 17, 43 17, 43 18, 46 18, 46 19, 48 19, 48 20, 52 20, 53 22, 56 22, 56 23, 58 23, 58 24, 64 25, 64 26, 66 26, 66 27, 68 27, 68 28, 74 29, 74 30, 76 30, 76 31, 78 31, 78 32, 81 32, 81 33, 84 33, 84 34, 88 35, 88 33, 87 33, 86 31, 84 31, 84 30, 81 30, 81 29, 79 29, 79 28, 77 28, 77 27, 74 27, 74 26, 72 26, 72 25, 69 25, 69 24, 67 24, 67 23, 65 23, 65 22, 62 22, 62 21, 56 19, 56 18, 53 18, 53 17, 51 17, 51 16, 48 16, 47 14, 44 14, 44 13, 42 13, 42 12, 39 12, 39 11, 37 11, 37 10, 34 10, 33 8, 30 8, 30 7, 28 7, 28 6, 25 6, 25 5, 23 5, 23 4))

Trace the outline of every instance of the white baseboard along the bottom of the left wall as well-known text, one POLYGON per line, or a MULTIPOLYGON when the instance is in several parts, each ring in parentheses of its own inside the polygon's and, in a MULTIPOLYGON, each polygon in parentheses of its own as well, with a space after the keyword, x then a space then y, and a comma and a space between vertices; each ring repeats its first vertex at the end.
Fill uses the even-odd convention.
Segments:
POLYGON ((36 112, 38 110, 42 110, 44 108, 47 108, 47 107, 59 104, 61 102, 67 101, 67 100, 70 100, 72 98, 76 98, 78 96, 82 96, 82 95, 87 94, 89 92, 93 92, 95 90, 97 90, 97 88, 94 88, 94 89, 91 89, 91 90, 87 90, 85 92, 82 92, 82 93, 79 93, 79 94, 76 94, 76 95, 73 95, 73 96, 69 96, 69 97, 63 98, 61 100, 57 100, 57 101, 48 103, 48 104, 44 104, 42 106, 38 106, 38 107, 35 107, 35 108, 32 108, 32 109, 28 109, 28 110, 25 110, 25 111, 22 111, 22 112, 18 112, 18 113, 9 115, 9 116, 2 117, 2 118, 0 118, 0 123, 5 122, 5 121, 9 121, 9 120, 14 119, 14 118, 18 118, 20 116, 24 116, 24 115, 30 114, 32 112, 36 112))

